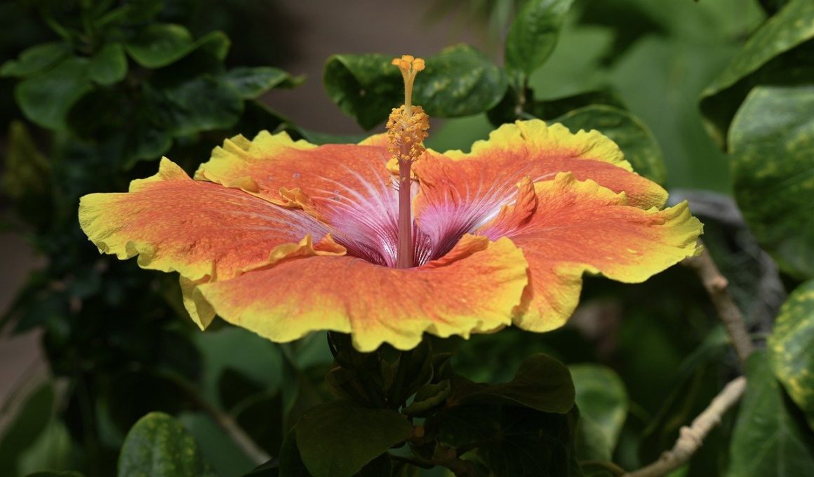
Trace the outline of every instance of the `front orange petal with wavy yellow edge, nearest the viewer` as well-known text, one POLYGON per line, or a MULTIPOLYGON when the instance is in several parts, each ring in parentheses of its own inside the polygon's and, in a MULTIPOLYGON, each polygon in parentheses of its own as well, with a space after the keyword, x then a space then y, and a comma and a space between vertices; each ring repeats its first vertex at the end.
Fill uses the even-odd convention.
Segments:
POLYGON ((467 337, 505 326, 526 282, 523 253, 508 238, 467 235, 448 256, 415 269, 315 256, 198 289, 226 321, 273 341, 337 330, 372 351, 382 343, 413 348, 425 331, 467 337))

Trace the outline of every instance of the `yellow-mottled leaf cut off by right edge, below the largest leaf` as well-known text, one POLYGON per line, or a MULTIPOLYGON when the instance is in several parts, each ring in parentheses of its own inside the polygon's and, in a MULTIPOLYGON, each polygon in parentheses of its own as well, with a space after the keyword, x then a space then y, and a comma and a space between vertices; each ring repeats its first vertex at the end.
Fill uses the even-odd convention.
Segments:
POLYGON ((768 357, 775 377, 803 409, 814 429, 814 280, 789 295, 768 337, 768 357))

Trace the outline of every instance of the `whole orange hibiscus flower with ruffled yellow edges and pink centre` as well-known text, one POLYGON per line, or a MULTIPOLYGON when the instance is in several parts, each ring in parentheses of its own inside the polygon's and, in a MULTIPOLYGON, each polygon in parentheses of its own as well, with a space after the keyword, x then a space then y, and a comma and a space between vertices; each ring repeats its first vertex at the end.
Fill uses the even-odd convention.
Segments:
MULTIPOLYGON (((405 58, 412 81, 423 65, 405 58)), ((278 342, 336 330, 361 351, 553 330, 584 273, 642 282, 696 252, 687 204, 663 209, 667 192, 597 131, 523 120, 440 153, 422 147, 420 115, 408 99, 359 144, 237 136, 194 178, 163 159, 127 193, 83 197, 82 230, 178 272, 202 329, 217 314, 278 342)))

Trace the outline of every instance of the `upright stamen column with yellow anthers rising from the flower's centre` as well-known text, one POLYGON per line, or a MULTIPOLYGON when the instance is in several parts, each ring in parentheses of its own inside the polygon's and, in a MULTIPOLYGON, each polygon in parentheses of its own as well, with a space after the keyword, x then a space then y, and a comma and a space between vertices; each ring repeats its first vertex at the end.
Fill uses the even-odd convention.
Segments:
POLYGON ((424 60, 404 55, 392 60, 405 81, 405 103, 393 108, 387 119, 387 150, 399 164, 399 219, 396 268, 415 266, 410 168, 424 154, 424 139, 429 136, 430 116, 420 106, 413 106, 413 82, 424 69, 424 60))

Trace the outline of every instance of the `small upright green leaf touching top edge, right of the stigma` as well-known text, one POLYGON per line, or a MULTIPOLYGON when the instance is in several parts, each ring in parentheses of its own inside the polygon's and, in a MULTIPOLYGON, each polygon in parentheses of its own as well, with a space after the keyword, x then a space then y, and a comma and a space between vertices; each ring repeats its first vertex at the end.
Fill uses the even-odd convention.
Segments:
POLYGON ((557 45, 562 22, 573 0, 531 0, 520 9, 509 29, 505 64, 527 75, 540 68, 557 45))

